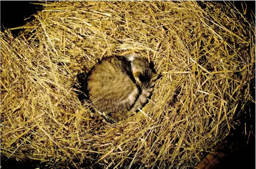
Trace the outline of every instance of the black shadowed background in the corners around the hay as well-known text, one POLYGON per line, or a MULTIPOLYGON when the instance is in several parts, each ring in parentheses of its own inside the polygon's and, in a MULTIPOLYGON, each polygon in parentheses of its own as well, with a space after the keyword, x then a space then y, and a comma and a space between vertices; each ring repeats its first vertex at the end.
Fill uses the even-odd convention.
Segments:
MULTIPOLYGON (((47 2, 49 2, 47 0, 47 2)), ((37 11, 42 10, 41 5, 31 3, 45 3, 38 1, 0 1, 0 28, 4 32, 4 29, 14 28, 25 25, 27 21, 31 21, 34 17, 24 20, 25 18, 36 14, 37 11)), ((223 2, 219 2, 223 3, 223 2)), ((255 14, 255 1, 233 1, 233 4, 242 11, 241 3, 247 4, 246 17, 255 23, 255 18, 252 19, 250 13, 255 14)), ((245 8, 245 4, 244 4, 245 8)), ((18 36, 20 29, 11 30, 14 36, 18 36)), ((251 81, 251 91, 255 99, 255 79, 251 81)), ((228 144, 222 149, 227 154, 225 160, 221 161, 221 165, 218 169, 255 169, 255 104, 249 103, 246 106, 246 114, 239 117, 241 122, 240 127, 236 126, 236 130, 233 130, 226 138, 228 144), (245 123, 247 126, 247 135, 245 135, 245 123), (248 133, 252 132, 248 137, 248 133)), ((14 160, 6 160, 6 157, 1 156, 1 169, 16 169, 27 168, 35 169, 36 167, 44 168, 45 164, 40 164, 40 161, 27 161, 26 163, 20 163, 14 160)))

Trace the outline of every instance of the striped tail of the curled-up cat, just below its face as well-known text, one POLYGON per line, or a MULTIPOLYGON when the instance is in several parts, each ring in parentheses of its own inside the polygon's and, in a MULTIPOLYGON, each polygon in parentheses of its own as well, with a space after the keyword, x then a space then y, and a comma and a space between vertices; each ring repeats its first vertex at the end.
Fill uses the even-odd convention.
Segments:
POLYGON ((147 98, 151 95, 152 92, 153 87, 143 89, 133 107, 128 111, 128 114, 131 115, 132 113, 137 112, 138 108, 142 109, 147 102, 147 98))

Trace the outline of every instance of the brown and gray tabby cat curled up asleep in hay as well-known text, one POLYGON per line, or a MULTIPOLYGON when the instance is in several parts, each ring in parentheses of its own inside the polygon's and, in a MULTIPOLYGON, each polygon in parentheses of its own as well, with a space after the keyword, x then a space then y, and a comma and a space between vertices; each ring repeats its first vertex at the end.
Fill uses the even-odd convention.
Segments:
POLYGON ((114 121, 123 120, 144 106, 157 77, 152 63, 145 58, 105 58, 87 75, 87 95, 94 108, 114 121))

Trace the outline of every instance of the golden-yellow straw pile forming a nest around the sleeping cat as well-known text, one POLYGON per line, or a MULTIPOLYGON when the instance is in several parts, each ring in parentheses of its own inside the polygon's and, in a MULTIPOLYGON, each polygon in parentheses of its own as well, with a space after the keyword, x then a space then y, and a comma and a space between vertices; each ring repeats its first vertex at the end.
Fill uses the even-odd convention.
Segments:
POLYGON ((61 1, 1 33, 1 153, 49 165, 195 166, 229 134, 255 77, 255 25, 231 3, 61 1), (131 118, 107 123, 76 76, 135 52, 164 76, 131 118))

